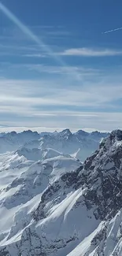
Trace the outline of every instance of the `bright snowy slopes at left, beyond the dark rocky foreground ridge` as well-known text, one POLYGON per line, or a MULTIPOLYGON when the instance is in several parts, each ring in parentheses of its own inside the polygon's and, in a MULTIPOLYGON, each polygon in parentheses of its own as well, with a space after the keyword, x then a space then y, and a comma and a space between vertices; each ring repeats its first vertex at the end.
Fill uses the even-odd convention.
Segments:
MULTIPOLYGON (((72 173, 81 165, 77 159, 51 149, 43 151, 42 161, 31 158, 34 158, 33 150, 25 148, 0 155, 0 255, 7 255, 6 246, 8 255, 20 255, 19 250, 24 249, 17 247, 24 230, 37 224, 36 211, 44 192, 51 189, 51 184, 57 184, 65 173, 72 173)), ((47 204, 46 211, 51 209, 47 204)), ((25 250, 23 254, 29 255, 30 249, 25 250)))

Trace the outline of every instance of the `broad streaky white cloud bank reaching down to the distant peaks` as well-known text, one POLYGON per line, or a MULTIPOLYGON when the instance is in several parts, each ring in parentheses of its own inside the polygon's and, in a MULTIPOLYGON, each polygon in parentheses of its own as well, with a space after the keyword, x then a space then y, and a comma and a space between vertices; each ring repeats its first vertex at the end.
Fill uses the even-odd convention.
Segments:
MULTIPOLYGON (((111 78, 112 79, 112 78, 111 78)), ((113 79, 112 79, 113 80, 113 79)), ((66 86, 58 80, 0 80, 1 124, 22 130, 39 126, 44 130, 112 130, 121 127, 122 113, 114 102, 121 101, 121 83, 104 79, 83 86, 66 86), (107 110, 107 111, 106 111, 107 110), (43 128, 42 128, 43 129, 43 128)), ((5 131, 0 128, 0 131, 5 131)), ((15 128, 15 130, 17 130, 15 128)))

